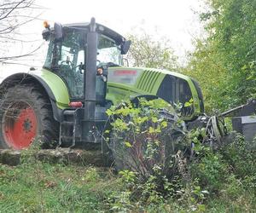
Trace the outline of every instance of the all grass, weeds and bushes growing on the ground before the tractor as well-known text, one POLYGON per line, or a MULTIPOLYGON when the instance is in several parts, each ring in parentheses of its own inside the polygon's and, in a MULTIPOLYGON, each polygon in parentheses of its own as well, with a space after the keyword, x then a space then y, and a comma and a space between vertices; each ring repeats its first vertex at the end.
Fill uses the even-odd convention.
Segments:
POLYGON ((141 106, 126 104, 108 112, 119 116, 113 123, 114 133, 125 133, 118 140, 119 148, 115 147, 115 158, 126 163, 119 164, 123 169, 119 174, 108 168, 40 162, 31 154, 35 148, 24 152, 16 167, 0 164, 0 211, 256 210, 255 151, 247 149, 240 135, 212 152, 197 140, 204 130, 182 132, 182 121, 172 116, 172 107, 163 101, 142 101, 141 106), (172 137, 177 128, 178 138, 172 137), (192 158, 186 149, 190 141, 195 141, 192 158), (124 150, 129 153, 125 158, 124 150))

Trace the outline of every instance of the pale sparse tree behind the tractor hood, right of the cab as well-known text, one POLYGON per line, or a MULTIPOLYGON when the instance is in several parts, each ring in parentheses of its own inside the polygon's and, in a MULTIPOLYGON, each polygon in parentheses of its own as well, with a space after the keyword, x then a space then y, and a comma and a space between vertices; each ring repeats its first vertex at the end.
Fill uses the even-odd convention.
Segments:
POLYGON ((177 57, 173 54, 170 42, 166 38, 155 41, 148 34, 128 35, 131 49, 128 59, 133 66, 154 67, 167 70, 177 69, 177 57))

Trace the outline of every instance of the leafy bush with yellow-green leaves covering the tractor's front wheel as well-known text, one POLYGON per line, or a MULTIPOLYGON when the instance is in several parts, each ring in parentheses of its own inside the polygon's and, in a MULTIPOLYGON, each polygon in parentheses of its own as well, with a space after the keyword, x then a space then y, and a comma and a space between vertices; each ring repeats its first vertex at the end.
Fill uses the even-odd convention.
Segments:
POLYGON ((160 210, 157 206, 171 199, 190 210, 205 209, 207 191, 191 180, 187 164, 190 137, 198 135, 183 132, 183 121, 170 105, 141 99, 135 107, 112 107, 108 115, 113 117, 109 147, 126 186, 113 195, 115 209, 133 210, 131 201, 137 201, 141 210, 160 210))

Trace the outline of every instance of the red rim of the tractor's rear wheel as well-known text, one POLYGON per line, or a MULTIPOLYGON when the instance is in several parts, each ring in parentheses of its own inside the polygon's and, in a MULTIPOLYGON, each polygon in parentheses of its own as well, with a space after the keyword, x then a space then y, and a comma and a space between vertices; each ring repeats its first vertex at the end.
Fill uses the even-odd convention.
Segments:
POLYGON ((37 117, 26 102, 13 104, 3 116, 4 141, 14 149, 29 147, 37 135, 37 117))

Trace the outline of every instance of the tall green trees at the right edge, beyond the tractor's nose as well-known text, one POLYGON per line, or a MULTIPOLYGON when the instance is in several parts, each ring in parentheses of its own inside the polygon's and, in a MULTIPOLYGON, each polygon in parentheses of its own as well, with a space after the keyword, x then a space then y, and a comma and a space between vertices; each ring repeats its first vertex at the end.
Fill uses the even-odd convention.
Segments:
POLYGON ((186 73, 195 77, 207 109, 221 110, 255 96, 256 1, 208 0, 201 14, 207 39, 198 39, 186 73))

